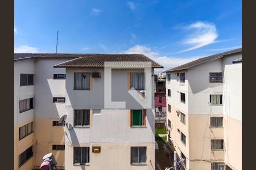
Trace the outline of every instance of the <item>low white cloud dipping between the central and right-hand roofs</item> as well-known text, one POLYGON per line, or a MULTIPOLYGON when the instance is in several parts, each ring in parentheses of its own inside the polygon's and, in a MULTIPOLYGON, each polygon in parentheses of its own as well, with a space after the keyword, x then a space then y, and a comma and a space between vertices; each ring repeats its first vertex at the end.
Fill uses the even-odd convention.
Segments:
POLYGON ((150 47, 144 46, 144 45, 135 45, 129 48, 128 50, 124 51, 123 53, 144 54, 145 56, 151 58, 155 62, 158 62, 160 65, 164 66, 164 69, 156 69, 155 70, 156 72, 162 72, 163 70, 171 69, 173 67, 183 65, 184 63, 203 57, 203 56, 195 56, 195 57, 189 57, 189 58, 167 57, 159 54, 158 52, 151 50, 150 47))

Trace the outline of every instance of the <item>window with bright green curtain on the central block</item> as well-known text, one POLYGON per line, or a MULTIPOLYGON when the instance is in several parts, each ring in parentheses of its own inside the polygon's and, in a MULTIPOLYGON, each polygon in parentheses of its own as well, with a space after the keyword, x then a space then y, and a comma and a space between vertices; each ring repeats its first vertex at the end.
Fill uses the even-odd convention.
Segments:
POLYGON ((146 110, 131 111, 132 126, 146 126, 146 110))

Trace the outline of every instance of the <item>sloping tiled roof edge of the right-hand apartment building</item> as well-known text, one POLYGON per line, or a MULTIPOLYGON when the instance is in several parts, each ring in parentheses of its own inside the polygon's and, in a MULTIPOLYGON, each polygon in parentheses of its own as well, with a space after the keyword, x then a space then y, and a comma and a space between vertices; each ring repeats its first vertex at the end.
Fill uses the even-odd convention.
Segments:
POLYGON ((235 53, 240 53, 240 52, 242 52, 242 48, 238 48, 238 49, 235 49, 235 50, 230 50, 230 51, 224 52, 224 53, 214 54, 212 56, 196 59, 195 61, 185 63, 184 65, 174 67, 174 68, 172 68, 170 70, 166 70, 164 72, 166 73, 166 72, 172 72, 172 71, 187 70, 191 67, 195 67, 195 66, 200 65, 202 63, 213 61, 215 59, 222 58, 222 57, 227 56, 229 54, 235 54, 235 53))

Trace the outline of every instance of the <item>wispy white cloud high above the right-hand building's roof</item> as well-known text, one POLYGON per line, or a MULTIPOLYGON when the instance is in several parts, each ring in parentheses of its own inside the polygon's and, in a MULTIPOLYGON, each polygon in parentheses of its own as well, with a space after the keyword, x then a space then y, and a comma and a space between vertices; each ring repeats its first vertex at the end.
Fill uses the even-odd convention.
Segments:
POLYGON ((191 47, 177 53, 188 52, 189 50, 212 44, 216 42, 215 40, 218 37, 216 26, 213 23, 195 22, 184 27, 184 29, 192 31, 183 41, 184 45, 189 45, 191 47))

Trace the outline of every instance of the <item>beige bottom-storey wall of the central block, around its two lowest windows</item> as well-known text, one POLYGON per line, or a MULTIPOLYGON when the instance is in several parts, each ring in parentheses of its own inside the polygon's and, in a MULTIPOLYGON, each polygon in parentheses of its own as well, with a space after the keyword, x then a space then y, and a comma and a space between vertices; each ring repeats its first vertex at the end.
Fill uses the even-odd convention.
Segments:
POLYGON ((90 165, 73 165, 73 146, 65 144, 65 169, 155 169, 155 145, 154 143, 80 143, 79 146, 89 146, 90 165), (101 152, 92 153, 92 146, 101 146, 101 152), (147 163, 146 165, 131 165, 130 164, 130 147, 131 146, 146 146, 147 147, 147 163), (151 160, 151 161, 150 161, 151 160), (152 164, 151 164, 152 163, 152 164))

